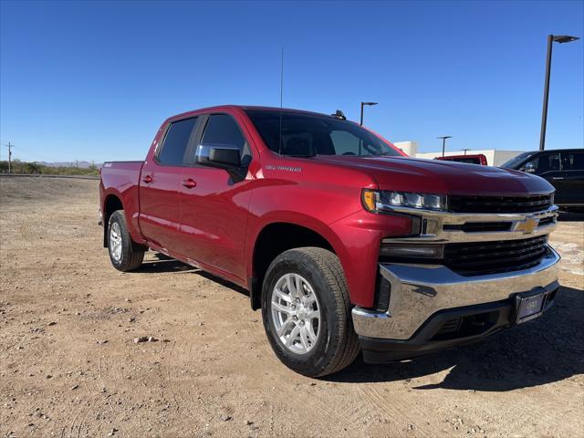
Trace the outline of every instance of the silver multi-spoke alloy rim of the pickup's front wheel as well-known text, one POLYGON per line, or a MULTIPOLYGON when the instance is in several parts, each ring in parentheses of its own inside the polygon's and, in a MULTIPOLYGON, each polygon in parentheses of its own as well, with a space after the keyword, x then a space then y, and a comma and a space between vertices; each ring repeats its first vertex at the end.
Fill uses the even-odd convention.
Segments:
POLYGON ((278 338, 290 351, 306 354, 320 334, 320 306, 308 281, 286 274, 276 281, 270 300, 278 338))

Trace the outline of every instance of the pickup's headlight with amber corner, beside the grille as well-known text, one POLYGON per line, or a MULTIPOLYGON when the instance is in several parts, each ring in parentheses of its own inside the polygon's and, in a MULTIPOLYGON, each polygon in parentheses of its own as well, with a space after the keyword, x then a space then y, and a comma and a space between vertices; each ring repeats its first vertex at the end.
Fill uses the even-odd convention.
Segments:
POLYGON ((373 213, 391 212, 394 207, 410 207, 438 211, 446 210, 446 196, 443 194, 364 189, 361 195, 361 201, 365 209, 373 213))

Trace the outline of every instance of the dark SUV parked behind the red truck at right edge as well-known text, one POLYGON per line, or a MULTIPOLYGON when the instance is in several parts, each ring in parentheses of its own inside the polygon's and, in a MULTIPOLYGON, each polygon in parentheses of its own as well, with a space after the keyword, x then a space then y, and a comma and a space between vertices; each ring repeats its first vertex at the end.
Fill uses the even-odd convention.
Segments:
POLYGON ((546 179, 556 188, 560 209, 584 213, 584 149, 524 152, 501 167, 546 179))

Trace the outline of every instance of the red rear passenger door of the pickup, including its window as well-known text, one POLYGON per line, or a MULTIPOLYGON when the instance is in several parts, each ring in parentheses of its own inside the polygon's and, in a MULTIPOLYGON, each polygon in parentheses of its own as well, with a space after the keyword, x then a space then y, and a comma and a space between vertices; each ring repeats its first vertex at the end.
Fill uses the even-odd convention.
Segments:
MULTIPOLYGON (((195 138, 198 118, 169 123, 159 147, 144 162, 140 182, 140 228, 152 244, 177 252, 180 194, 187 150, 195 138)), ((179 253, 180 254, 180 253, 179 253)))

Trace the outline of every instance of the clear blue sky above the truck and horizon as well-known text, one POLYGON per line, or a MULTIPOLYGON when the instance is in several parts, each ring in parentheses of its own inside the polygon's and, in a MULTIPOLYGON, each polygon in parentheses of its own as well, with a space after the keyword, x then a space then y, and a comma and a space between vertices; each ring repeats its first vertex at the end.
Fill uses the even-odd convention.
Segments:
MULTIPOLYGON (((140 160, 205 106, 344 110, 437 151, 537 149, 547 34, 583 1, 26 2, 0 5, 0 139, 29 161, 140 160)), ((548 148, 584 145, 584 46, 554 45, 548 148)), ((2 147, 2 159, 6 148, 2 147)))

